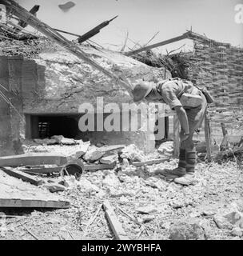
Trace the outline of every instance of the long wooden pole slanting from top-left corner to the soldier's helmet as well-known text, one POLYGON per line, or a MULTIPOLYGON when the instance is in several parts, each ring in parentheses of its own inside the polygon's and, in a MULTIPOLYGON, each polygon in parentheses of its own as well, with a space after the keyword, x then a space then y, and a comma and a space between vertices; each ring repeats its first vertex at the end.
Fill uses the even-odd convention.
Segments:
POLYGON ((45 34, 46 37, 50 38, 54 42, 56 42, 59 46, 64 47, 66 50, 70 51, 70 53, 74 54, 78 58, 83 61, 89 63, 95 69, 101 71, 103 74, 106 74, 109 78, 114 79, 115 82, 120 82, 125 90, 128 90, 129 94, 131 94, 131 86, 127 81, 124 81, 124 78, 118 77, 116 74, 111 73, 109 70, 104 69, 97 62, 94 62, 90 58, 86 56, 86 53, 82 51, 78 46, 76 46, 73 42, 70 42, 66 38, 64 38, 61 34, 58 34, 56 30, 48 26, 46 23, 40 21, 34 15, 30 14, 26 9, 22 6, 19 6, 17 2, 14 0, 2 0, 4 5, 10 8, 12 14, 16 15, 23 22, 27 22, 30 26, 33 26, 38 31, 45 34))

